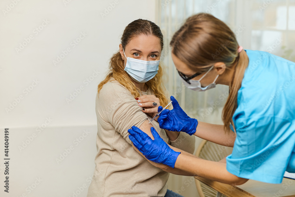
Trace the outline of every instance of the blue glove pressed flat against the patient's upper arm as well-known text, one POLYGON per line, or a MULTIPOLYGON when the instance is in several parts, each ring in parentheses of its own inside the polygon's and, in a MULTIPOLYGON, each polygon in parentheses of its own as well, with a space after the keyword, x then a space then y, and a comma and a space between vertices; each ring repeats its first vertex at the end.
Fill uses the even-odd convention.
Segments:
POLYGON ((128 129, 129 139, 133 145, 149 160, 156 163, 163 163, 174 168, 176 159, 180 152, 171 149, 168 144, 159 136, 155 128, 150 128, 154 140, 136 126, 128 129))

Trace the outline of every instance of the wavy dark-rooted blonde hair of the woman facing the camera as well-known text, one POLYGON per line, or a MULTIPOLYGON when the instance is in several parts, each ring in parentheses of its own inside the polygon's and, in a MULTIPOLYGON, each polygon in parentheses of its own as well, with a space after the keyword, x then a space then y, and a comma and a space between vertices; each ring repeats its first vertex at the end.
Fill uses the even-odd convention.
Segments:
MULTIPOLYGON (((158 37, 161 45, 161 50, 163 50, 163 35, 160 27, 158 27, 155 23, 144 19, 137 19, 127 25, 121 38, 123 49, 125 49, 126 45, 130 42, 132 38, 141 34, 155 35, 156 37, 158 37)), ((98 85, 98 92, 101 90, 104 84, 109 82, 111 78, 114 78, 126 89, 128 89, 134 96, 134 98, 139 97, 139 92, 141 91, 138 87, 135 86, 127 72, 124 71, 124 67, 124 60, 122 59, 120 52, 115 53, 110 59, 109 73, 107 74, 106 78, 98 85)), ((148 82, 146 82, 146 84, 155 94, 155 96, 159 98, 160 104, 167 105, 168 100, 164 94, 164 87, 162 87, 162 76, 163 70, 161 65, 159 65, 158 73, 155 75, 155 77, 153 77, 153 79, 150 79, 148 82)))

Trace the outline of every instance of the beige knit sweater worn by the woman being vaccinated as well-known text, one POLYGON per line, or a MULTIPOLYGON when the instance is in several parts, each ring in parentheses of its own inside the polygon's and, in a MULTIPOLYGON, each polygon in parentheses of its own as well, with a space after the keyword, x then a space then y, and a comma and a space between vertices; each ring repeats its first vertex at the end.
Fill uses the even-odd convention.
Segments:
MULTIPOLYGON (((148 89, 143 95, 152 94, 148 89)), ((131 93, 117 81, 104 84, 96 95, 97 136, 95 170, 87 197, 165 196, 169 173, 150 164, 132 147, 128 129, 151 117, 142 112, 131 93)), ((158 122, 153 127, 163 140, 194 152, 195 138, 181 132, 170 141, 158 122)))

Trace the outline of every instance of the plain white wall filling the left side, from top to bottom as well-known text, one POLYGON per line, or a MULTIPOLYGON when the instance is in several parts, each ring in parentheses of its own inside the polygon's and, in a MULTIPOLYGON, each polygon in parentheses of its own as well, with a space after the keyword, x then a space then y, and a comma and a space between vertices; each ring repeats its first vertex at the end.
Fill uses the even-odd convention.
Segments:
MULTIPOLYGON (((0 8, 0 144, 3 153, 4 128, 9 128, 11 159, 8 194, 3 191, 4 156, 0 158, 0 196, 74 196, 83 184, 88 188, 94 170, 97 85, 124 28, 138 18, 154 21, 155 2, 1 0, 0 8), (110 5, 115 6, 102 17, 110 5), (81 42, 74 45, 76 39, 81 42), (16 50, 20 43, 25 45, 21 51, 16 50), (67 48, 71 51, 54 65, 67 48), (83 90, 67 103, 80 86, 83 90), (84 130, 89 133, 83 136, 84 130), (26 147, 20 150, 22 145, 26 147), (70 146, 71 153, 57 162, 70 146), (30 190, 39 177, 40 184, 30 190)), ((84 189, 78 196, 86 193, 84 189)))

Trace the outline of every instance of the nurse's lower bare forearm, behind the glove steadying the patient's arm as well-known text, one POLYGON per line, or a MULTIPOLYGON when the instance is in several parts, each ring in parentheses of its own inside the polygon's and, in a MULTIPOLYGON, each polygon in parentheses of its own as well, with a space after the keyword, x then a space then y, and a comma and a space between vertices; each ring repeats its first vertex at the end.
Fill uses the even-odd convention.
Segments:
POLYGON ((241 185, 248 180, 228 172, 226 170, 226 163, 208 161, 185 154, 179 154, 174 167, 189 172, 194 176, 200 176, 226 184, 241 185))

